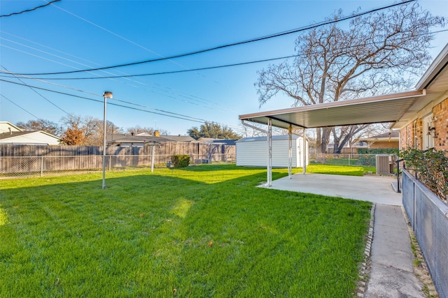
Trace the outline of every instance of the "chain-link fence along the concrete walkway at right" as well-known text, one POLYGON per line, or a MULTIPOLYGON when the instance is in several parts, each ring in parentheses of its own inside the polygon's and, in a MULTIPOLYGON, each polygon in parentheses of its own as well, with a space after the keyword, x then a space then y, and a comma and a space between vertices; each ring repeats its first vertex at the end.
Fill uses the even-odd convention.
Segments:
POLYGON ((448 206, 407 170, 402 171, 402 202, 437 293, 448 298, 448 206))

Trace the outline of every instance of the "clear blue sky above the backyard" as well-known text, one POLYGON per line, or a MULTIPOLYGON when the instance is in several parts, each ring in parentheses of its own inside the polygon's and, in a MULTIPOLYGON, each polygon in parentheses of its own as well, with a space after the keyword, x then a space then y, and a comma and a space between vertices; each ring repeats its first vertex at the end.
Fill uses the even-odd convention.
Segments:
MULTIPOLYGON (((2 0, 0 13, 20 12, 47 2, 2 0)), ((62 0, 27 13, 0 18, 0 65, 2 70, 12 73, 54 73, 126 64, 304 27, 325 20, 339 8, 344 15, 349 15, 357 8, 364 11, 391 3, 62 0)), ((419 3, 433 15, 448 16, 445 0, 419 3)), ((134 75, 284 57, 294 54, 296 37, 297 34, 290 34, 180 59, 88 74, 42 77, 134 75)), ((447 32, 437 33, 430 50, 433 57, 447 40, 447 32)), ((108 105, 107 119, 123 128, 149 126, 164 129, 172 135, 185 135, 188 128, 200 126, 207 120, 239 132, 239 114, 290 107, 293 103, 286 96, 277 96, 259 107, 253 84, 258 78, 257 71, 268 65, 265 62, 169 75, 99 80, 43 82, 21 79, 21 82, 0 77, 59 92, 0 82, 0 121, 15 124, 37 117, 58 123, 66 113, 102 119, 102 94, 112 91, 114 99, 128 103, 116 100, 109 100, 109 103, 149 111, 108 105), (173 117, 161 115, 167 112, 173 117)))

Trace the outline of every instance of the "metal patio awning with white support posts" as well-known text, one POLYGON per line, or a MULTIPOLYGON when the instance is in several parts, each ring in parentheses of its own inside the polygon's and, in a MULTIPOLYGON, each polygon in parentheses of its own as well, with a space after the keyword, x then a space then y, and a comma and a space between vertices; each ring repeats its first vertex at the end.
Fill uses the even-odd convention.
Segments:
MULTIPOLYGON (((292 129, 346 126, 355 124, 374 124, 396 122, 412 107, 426 90, 407 91, 399 94, 388 94, 369 98, 322 103, 291 107, 283 110, 242 114, 239 119, 267 125, 267 186, 272 182, 272 126, 288 129, 291 137, 292 129)), ((305 140, 305 137, 303 138, 305 140)), ((290 158, 290 157, 289 157, 290 158)), ((304 163, 304 172, 305 172, 304 163)), ((288 168, 290 172, 290 166, 288 168)))

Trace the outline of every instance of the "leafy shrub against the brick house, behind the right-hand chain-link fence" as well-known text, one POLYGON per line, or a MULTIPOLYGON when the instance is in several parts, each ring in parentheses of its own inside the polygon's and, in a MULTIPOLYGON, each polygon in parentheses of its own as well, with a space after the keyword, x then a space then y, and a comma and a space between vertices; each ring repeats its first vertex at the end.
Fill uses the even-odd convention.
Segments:
POLYGON ((428 149, 407 149, 402 151, 406 167, 418 174, 421 183, 425 184, 435 195, 445 201, 448 198, 448 156, 445 151, 428 149))

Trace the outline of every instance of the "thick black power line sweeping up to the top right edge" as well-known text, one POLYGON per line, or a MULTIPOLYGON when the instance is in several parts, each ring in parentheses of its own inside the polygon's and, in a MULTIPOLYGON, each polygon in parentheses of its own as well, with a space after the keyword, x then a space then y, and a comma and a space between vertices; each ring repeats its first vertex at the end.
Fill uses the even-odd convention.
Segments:
POLYGON ((280 32, 280 33, 274 33, 274 34, 270 34, 270 35, 267 35, 267 36, 261 36, 261 37, 258 37, 258 38, 252 38, 252 39, 249 39, 249 40, 243 40, 243 41, 239 41, 239 42, 236 42, 236 43, 230 43, 230 44, 227 44, 227 45, 219 45, 219 46, 216 46, 216 47, 210 47, 210 48, 204 49, 204 50, 197 50, 197 51, 194 51, 194 52, 187 52, 187 53, 183 53, 183 54, 176 54, 176 55, 173 55, 173 56, 170 56, 170 57, 161 57, 161 58, 155 58, 155 59, 148 59, 148 60, 145 60, 145 61, 137 61, 137 62, 127 63, 127 64, 118 64, 118 65, 115 65, 115 66, 105 66, 105 67, 101 67, 101 68, 90 68, 90 69, 84 69, 84 70, 71 70, 71 71, 63 71, 63 72, 55 72, 55 73, 20 73, 20 75, 62 75, 62 74, 68 74, 68 73, 83 73, 83 72, 87 72, 87 71, 104 70, 104 69, 118 68, 118 67, 123 67, 123 66, 134 66, 134 65, 138 65, 138 64, 148 64, 148 63, 155 62, 155 61, 162 61, 162 60, 169 60, 169 59, 176 59, 176 58, 181 58, 181 57, 187 57, 187 56, 192 56, 192 55, 195 55, 195 54, 202 54, 202 53, 205 53, 205 52, 211 52, 211 51, 214 51, 214 50, 221 50, 221 49, 224 49, 226 47, 233 47, 235 45, 244 45, 244 44, 247 44, 247 43, 254 43, 254 42, 260 41, 260 40, 267 40, 269 38, 275 38, 275 37, 279 37, 279 36, 285 36, 285 35, 288 35, 288 34, 291 34, 291 33, 297 33, 297 32, 300 32, 300 31, 314 29, 314 28, 321 27, 321 26, 324 26, 324 25, 327 25, 327 24, 334 24, 336 22, 342 22, 344 20, 350 20, 353 17, 360 17, 361 15, 367 15, 369 13, 374 13, 374 12, 377 12, 379 10, 392 8, 394 6, 400 6, 400 5, 403 5, 403 4, 406 4, 406 3, 410 3, 410 2, 414 2, 414 1, 416 1, 416 0, 407 0, 407 1, 400 2, 400 3, 391 4, 389 6, 383 6, 381 8, 374 8, 372 10, 367 10, 367 11, 365 11, 363 13, 356 13, 356 14, 349 15, 349 16, 346 16, 346 17, 340 17, 337 20, 323 21, 323 22, 319 22, 317 24, 312 24, 312 25, 301 27, 301 28, 298 28, 298 29, 292 29, 292 30, 288 30, 288 31, 283 31, 283 32, 280 32))

